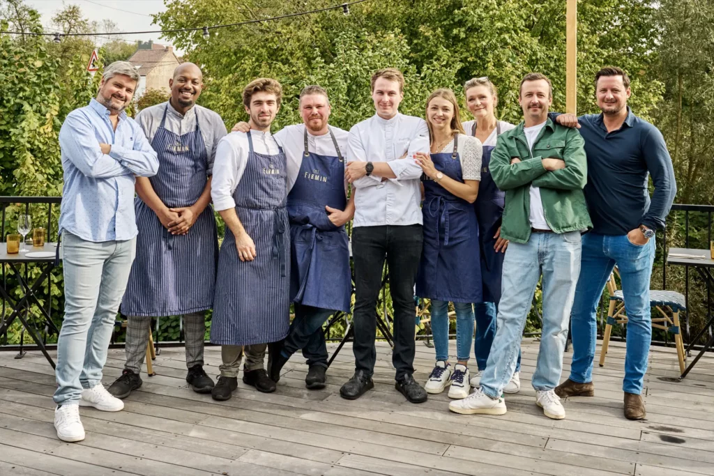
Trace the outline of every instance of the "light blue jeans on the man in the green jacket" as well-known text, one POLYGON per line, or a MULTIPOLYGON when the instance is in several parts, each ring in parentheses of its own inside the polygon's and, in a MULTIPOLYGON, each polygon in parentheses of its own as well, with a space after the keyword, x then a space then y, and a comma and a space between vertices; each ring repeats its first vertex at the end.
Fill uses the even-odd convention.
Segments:
POLYGON ((483 393, 500 397, 516 371, 521 336, 535 287, 543 275, 543 330, 533 373, 535 390, 553 390, 563 370, 570 307, 580 274, 580 232, 531 233, 528 243, 511 243, 503 260, 503 295, 496 338, 481 378, 483 393))

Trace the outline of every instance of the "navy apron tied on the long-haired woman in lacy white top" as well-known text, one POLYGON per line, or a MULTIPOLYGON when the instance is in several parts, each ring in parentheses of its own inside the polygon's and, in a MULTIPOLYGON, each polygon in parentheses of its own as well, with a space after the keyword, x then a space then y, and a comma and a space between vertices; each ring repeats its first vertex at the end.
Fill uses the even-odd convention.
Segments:
MULTIPOLYGON (((463 183, 458 136, 453 153, 432 153, 437 171, 463 183)), ((473 205, 421 176, 424 185, 423 250, 416 278, 416 295, 452 303, 481 302, 481 266, 473 240, 478 223, 473 205)))

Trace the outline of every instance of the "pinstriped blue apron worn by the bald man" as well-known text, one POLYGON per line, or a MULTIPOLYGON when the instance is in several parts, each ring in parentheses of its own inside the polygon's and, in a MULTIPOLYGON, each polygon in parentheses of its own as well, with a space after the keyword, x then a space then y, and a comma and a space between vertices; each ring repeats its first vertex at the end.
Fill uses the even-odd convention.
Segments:
MULTIPOLYGON (((206 188, 208 153, 198 126, 179 136, 164 127, 166 111, 151 141, 159 172, 149 181, 169 208, 192 206, 206 188)), ((136 259, 121 300, 124 315, 183 315, 213 305, 218 237, 213 208, 207 206, 186 235, 172 235, 141 198, 134 199, 136 259)))

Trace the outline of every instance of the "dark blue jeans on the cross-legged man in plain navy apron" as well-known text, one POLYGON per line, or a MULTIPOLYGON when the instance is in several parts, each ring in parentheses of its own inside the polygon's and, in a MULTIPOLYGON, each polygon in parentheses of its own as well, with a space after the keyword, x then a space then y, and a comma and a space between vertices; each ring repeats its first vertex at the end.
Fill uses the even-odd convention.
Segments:
POLYGON ((295 318, 290 324, 288 337, 285 338, 283 357, 290 358, 298 350, 303 350, 303 357, 308 365, 322 365, 327 368, 327 345, 322 325, 335 313, 331 309, 313 308, 310 305, 295 304, 295 318))

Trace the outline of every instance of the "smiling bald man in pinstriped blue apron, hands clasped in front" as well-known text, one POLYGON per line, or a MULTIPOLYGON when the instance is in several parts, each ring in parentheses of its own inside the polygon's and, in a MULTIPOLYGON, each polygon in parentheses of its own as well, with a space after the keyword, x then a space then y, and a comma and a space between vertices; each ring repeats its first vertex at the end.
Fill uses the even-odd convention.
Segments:
POLYGON ((136 179, 139 237, 121 301, 121 313, 128 316, 126 364, 109 388, 115 397, 128 397, 141 387, 151 318, 170 315, 183 319, 186 381, 198 393, 213 388, 203 371, 206 310, 213 305, 218 260, 216 220, 209 203, 213 158, 226 126, 217 113, 196 106, 202 87, 201 69, 181 64, 169 80, 169 101, 136 116, 159 155, 159 173, 136 179))

